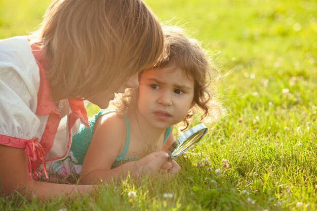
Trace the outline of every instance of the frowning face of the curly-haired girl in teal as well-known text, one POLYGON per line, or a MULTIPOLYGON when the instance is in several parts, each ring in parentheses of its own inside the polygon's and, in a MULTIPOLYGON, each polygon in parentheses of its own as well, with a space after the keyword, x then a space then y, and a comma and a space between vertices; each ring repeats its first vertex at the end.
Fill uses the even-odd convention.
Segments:
POLYGON ((192 107, 194 80, 176 66, 147 70, 140 77, 138 112, 157 129, 182 121, 192 107))

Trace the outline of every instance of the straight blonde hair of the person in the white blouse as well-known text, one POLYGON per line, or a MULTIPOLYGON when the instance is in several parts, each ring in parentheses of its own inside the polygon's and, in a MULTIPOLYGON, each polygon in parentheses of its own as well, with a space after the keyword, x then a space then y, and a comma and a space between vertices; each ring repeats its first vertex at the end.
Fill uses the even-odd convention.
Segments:
POLYGON ((141 0, 54 0, 29 36, 44 49, 52 87, 91 97, 122 86, 163 50, 159 21, 141 0))

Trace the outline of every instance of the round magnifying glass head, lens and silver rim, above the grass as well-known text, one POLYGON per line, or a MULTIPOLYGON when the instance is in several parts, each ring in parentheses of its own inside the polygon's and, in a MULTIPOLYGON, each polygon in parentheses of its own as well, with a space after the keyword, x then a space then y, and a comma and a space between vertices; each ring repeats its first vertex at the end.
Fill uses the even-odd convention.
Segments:
POLYGON ((197 124, 183 133, 167 150, 172 159, 187 152, 197 142, 199 142, 207 133, 208 128, 204 123, 197 124))

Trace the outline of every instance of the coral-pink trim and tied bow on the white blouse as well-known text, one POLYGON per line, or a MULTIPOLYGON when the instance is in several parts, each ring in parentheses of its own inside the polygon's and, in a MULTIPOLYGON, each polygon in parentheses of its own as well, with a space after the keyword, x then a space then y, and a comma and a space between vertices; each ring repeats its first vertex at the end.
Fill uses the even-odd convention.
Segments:
MULTIPOLYGON (((38 116, 49 115, 47 124, 44 130, 44 133, 41 137, 41 141, 38 142, 37 138, 30 140, 10 137, 0 134, 0 144, 15 147, 15 148, 24 148, 25 154, 28 158, 28 172, 29 178, 32 179, 32 169, 34 171, 34 178, 36 178, 36 170, 40 164, 43 164, 43 170, 46 178, 48 175, 46 172, 45 162, 51 160, 61 159, 67 155, 70 144, 71 144, 71 128, 74 125, 75 121, 80 118, 81 121, 89 127, 87 111, 83 101, 77 101, 68 99, 71 113, 68 118, 68 132, 69 132, 69 141, 67 144, 67 150, 65 154, 61 157, 52 158, 49 160, 44 160, 46 155, 49 153, 53 146, 54 138, 57 133, 58 125, 61 120, 60 113, 52 99, 50 83, 45 74, 45 68, 43 67, 41 58, 43 56, 43 50, 39 49, 38 44, 31 45, 32 53, 36 60, 36 63, 39 67, 39 90, 37 93, 37 107, 35 114, 38 116), (40 62, 41 61, 41 62, 40 62)), ((44 61, 45 62, 45 61, 44 61)), ((90 127, 89 127, 90 128, 90 127)))

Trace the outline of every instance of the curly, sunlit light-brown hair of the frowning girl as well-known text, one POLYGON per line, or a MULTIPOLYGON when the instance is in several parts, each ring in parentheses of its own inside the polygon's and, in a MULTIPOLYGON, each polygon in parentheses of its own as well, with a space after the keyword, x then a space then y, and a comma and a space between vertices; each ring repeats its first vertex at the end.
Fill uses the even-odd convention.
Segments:
MULTIPOLYGON (((215 100, 217 67, 207 56, 208 53, 202 48, 199 41, 189 38, 181 28, 165 26, 163 31, 165 33, 164 52, 158 62, 150 69, 160 71, 159 69, 168 66, 175 65, 179 67, 188 78, 194 80, 193 105, 203 110, 201 120, 207 116, 211 117, 209 119, 216 120, 221 113, 220 103, 215 100), (213 87, 210 86, 211 84, 213 87), (212 112, 209 110, 210 108, 212 108, 212 112)), ((137 95, 137 90, 129 90, 114 101, 114 105, 118 110, 127 113, 136 105, 137 95)), ((195 113, 194 106, 183 120, 185 123, 184 129, 188 127, 189 120, 195 113)))

